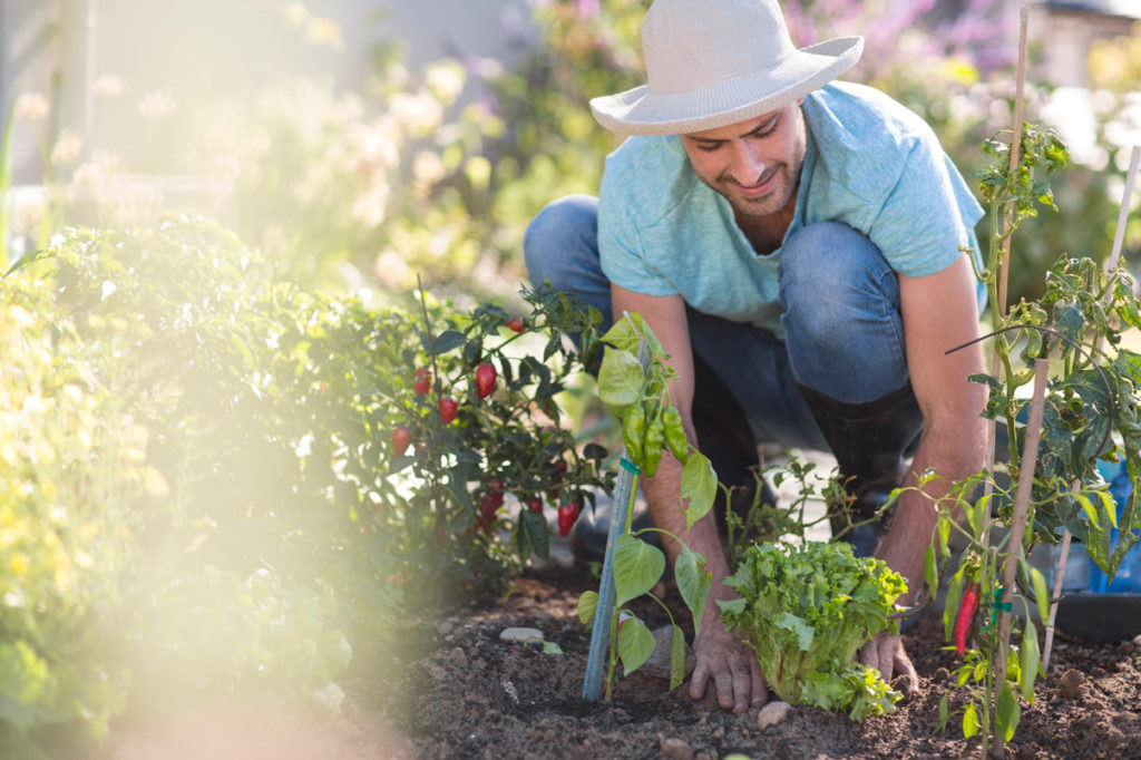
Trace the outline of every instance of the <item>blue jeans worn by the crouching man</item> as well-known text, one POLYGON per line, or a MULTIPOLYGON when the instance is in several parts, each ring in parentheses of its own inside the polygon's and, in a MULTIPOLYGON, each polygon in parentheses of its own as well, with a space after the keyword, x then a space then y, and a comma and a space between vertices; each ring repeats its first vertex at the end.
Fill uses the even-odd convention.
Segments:
MULTIPOLYGON (((597 232, 598 200, 567 196, 531 223, 524 256, 532 282, 549 280, 596 307, 605 329, 612 322, 610 284, 599 264, 597 232)), ((695 362, 728 389, 755 440, 828 451, 798 386, 844 404, 908 386, 899 281, 872 241, 834 221, 788 237, 779 280, 784 340, 689 308, 695 362)))

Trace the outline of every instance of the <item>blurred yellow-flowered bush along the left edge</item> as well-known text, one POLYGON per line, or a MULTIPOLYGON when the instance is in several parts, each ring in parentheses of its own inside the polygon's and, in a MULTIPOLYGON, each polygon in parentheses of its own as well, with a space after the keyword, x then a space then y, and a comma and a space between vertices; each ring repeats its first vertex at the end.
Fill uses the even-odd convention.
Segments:
POLYGON ((137 428, 42 283, 0 281, 0 754, 99 736, 126 673, 104 639, 126 560, 123 500, 151 482, 137 428), (108 604, 110 603, 110 604, 108 604))

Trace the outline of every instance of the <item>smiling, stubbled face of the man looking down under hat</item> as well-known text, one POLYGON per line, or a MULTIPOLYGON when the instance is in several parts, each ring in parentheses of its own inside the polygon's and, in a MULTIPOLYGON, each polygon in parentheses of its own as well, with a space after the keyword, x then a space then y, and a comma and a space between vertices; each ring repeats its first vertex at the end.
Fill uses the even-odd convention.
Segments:
POLYGON ((800 102, 779 111, 681 136, 697 177, 723 195, 738 218, 768 217, 796 200, 804 163, 800 102))

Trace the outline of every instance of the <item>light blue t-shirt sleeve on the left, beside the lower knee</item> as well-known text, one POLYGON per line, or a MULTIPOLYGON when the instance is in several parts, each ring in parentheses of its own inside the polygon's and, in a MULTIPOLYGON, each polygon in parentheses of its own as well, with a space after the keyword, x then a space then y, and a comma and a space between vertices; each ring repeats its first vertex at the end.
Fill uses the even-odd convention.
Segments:
POLYGON ((632 202, 602 178, 598 197, 598 252, 602 274, 614 284, 646 296, 672 296, 678 290, 655 269, 638 234, 632 202))

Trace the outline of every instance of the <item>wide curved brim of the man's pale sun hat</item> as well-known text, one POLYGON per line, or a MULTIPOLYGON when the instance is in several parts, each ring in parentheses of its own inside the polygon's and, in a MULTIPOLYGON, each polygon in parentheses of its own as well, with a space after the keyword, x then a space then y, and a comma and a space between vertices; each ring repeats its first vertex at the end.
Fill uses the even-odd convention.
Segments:
POLYGON ((686 92, 658 94, 647 86, 593 98, 590 108, 621 135, 683 135, 771 113, 824 87, 856 65, 863 37, 840 37, 802 48, 775 70, 752 72, 686 92))

